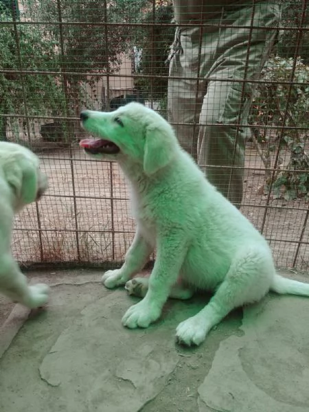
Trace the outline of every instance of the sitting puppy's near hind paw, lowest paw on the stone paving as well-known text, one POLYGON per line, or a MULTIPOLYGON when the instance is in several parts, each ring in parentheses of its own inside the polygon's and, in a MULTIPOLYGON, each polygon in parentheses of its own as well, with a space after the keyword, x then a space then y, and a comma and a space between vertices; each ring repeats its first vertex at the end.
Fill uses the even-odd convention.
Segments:
POLYGON ((206 328, 197 316, 179 323, 176 328, 176 341, 183 345, 201 345, 205 341, 206 328))

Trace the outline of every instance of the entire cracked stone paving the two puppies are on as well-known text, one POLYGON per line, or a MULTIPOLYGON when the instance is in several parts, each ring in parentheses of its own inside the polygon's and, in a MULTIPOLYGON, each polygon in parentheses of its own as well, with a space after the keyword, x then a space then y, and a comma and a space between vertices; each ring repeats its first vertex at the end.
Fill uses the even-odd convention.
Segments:
POLYGON ((308 298, 268 295, 184 348, 176 325, 207 296, 170 300, 155 325, 128 330, 138 299, 106 290, 100 272, 29 277, 51 297, 32 312, 0 301, 1 412, 309 412, 308 298))

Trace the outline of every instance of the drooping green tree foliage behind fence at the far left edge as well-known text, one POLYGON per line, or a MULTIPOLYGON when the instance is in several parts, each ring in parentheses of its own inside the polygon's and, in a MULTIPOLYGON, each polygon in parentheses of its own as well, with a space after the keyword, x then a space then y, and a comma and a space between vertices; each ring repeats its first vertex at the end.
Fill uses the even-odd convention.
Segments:
MULTIPOLYGON (((11 20, 8 10, 1 8, 0 21, 11 20)), ((12 24, 3 24, 0 30, 0 69, 58 71, 55 47, 56 43, 46 38, 39 27, 16 25, 15 32, 12 24)), ((64 105, 60 79, 45 74, 0 73, 1 114, 57 115, 63 113, 64 105)), ((0 122, 0 139, 6 139, 5 117, 0 117, 0 122)), ((18 130, 14 119, 11 128, 13 133, 18 130)))

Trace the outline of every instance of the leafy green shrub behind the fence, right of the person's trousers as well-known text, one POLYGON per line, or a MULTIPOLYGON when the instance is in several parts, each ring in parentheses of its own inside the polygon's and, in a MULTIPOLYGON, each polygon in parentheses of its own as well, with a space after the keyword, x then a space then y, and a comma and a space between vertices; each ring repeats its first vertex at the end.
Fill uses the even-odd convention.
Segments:
POLYGON ((271 156, 278 145, 280 153, 286 152, 289 155, 286 165, 279 159, 281 161, 275 175, 268 173, 266 176, 266 188, 272 185, 274 196, 284 196, 286 200, 297 197, 309 199, 309 156, 306 152, 309 66, 304 65, 301 58, 297 58, 295 74, 291 78, 294 63, 293 58, 279 56, 268 60, 262 80, 271 83, 259 84, 250 119, 258 144, 266 144, 266 149, 261 152, 265 165, 269 167, 271 156), (263 128, 255 128, 255 125, 275 125, 279 128, 275 129, 275 134, 268 133, 266 128, 264 133, 260 133, 263 128))

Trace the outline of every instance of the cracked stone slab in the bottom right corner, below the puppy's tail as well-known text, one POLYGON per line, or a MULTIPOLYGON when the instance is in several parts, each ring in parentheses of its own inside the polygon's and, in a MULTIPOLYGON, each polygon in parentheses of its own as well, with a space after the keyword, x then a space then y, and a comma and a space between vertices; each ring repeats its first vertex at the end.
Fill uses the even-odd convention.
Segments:
POLYGON ((220 343, 198 410, 309 411, 309 301, 268 296, 244 309, 243 336, 220 343))

